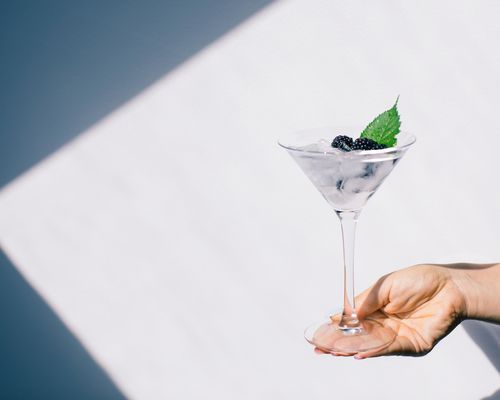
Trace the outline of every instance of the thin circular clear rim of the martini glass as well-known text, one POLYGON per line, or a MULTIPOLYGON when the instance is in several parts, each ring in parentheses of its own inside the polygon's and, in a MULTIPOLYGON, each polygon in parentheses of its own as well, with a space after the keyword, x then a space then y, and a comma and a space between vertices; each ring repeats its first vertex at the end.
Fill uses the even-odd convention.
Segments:
POLYGON ((417 140, 416 136, 409 133, 408 131, 401 131, 398 133, 398 136, 396 138, 398 138, 399 135, 402 135, 405 138, 405 143, 398 144, 398 142, 399 142, 399 140, 398 140, 398 142, 396 142, 395 146, 387 147, 385 149, 379 149, 379 150, 342 151, 342 150, 336 150, 332 147, 331 151, 318 151, 318 150, 306 150, 306 149, 298 147, 298 146, 285 144, 286 139, 293 137, 294 135, 298 136, 301 134, 308 134, 308 133, 313 134, 314 132, 325 131, 325 130, 329 130, 329 131, 331 130, 332 132, 342 132, 342 130, 339 130, 339 129, 333 128, 333 127, 304 129, 304 130, 300 130, 300 131, 291 132, 288 135, 278 139, 278 145, 280 145, 284 149, 298 152, 298 153, 314 154, 314 155, 333 155, 333 156, 343 156, 343 157, 356 157, 356 156, 363 156, 363 155, 370 155, 370 154, 389 154, 389 153, 393 153, 393 152, 406 150, 411 145, 413 145, 417 140))

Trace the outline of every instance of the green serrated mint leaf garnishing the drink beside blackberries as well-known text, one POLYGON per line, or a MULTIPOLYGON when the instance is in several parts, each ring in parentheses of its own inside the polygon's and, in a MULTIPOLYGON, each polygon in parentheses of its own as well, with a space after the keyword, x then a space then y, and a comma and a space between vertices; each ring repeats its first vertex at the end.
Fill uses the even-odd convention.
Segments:
POLYGON ((396 135, 399 133, 401 121, 398 113, 398 100, 391 109, 384 111, 368 124, 360 137, 374 140, 379 144, 392 147, 396 144, 396 135))

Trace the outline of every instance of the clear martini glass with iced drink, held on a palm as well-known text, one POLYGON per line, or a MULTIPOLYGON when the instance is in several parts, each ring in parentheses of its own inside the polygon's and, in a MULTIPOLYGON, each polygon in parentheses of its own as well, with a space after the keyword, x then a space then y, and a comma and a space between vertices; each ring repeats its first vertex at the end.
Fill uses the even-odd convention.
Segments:
MULTIPOLYGON (((306 340, 317 348, 339 355, 384 348, 396 334, 372 316, 361 320, 354 301, 354 238, 363 206, 391 173, 415 137, 401 132, 397 145, 382 150, 343 152, 330 143, 346 130, 314 129, 291 134, 278 141, 340 219, 344 252, 342 311, 309 326, 306 340)), ((356 132, 356 131, 354 131, 356 132)))

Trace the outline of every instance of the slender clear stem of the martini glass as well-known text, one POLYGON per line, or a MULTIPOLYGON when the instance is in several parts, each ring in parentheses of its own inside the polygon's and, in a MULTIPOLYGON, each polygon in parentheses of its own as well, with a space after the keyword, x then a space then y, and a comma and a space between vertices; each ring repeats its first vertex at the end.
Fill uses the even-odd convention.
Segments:
POLYGON ((344 304, 339 329, 356 333, 361 331, 361 324, 354 301, 354 239, 360 211, 336 211, 336 213, 342 226, 344 250, 344 304))

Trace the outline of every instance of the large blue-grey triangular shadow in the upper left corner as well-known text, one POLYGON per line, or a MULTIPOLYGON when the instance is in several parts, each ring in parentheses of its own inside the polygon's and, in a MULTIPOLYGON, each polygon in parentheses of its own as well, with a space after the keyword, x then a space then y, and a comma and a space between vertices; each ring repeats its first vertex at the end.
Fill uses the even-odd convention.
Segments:
POLYGON ((0 4, 0 188, 270 0, 0 4))

